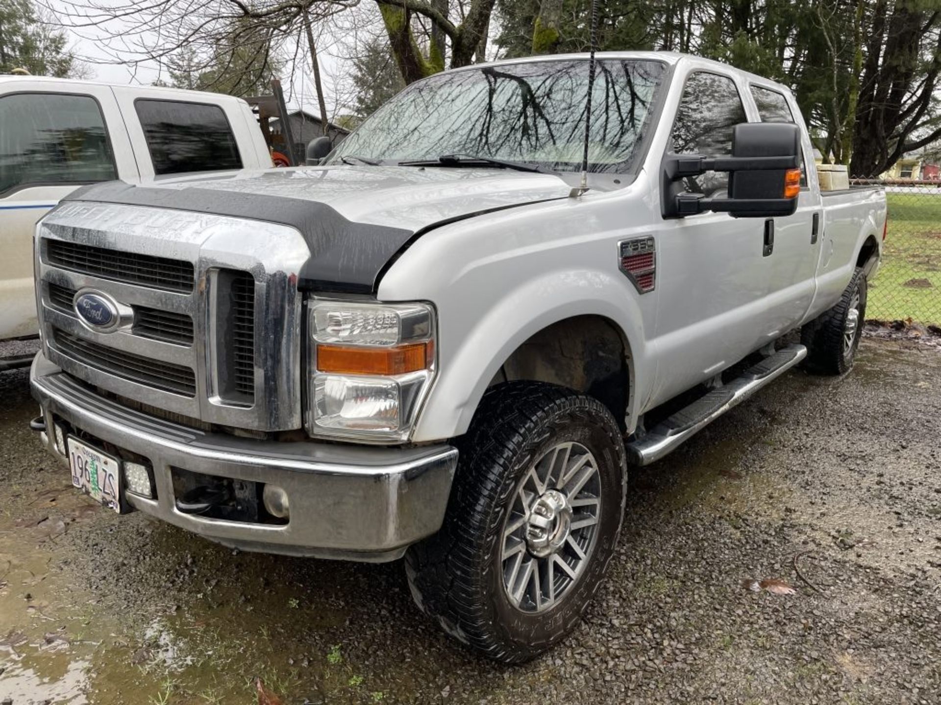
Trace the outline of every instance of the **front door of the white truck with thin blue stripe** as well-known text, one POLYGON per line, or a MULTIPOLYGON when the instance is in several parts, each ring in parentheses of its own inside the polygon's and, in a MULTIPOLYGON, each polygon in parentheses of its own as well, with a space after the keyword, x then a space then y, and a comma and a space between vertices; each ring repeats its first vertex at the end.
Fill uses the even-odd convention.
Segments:
POLYGON ((17 79, 2 88, 0 339, 39 332, 33 230, 40 217, 83 184, 137 178, 107 86, 17 79))

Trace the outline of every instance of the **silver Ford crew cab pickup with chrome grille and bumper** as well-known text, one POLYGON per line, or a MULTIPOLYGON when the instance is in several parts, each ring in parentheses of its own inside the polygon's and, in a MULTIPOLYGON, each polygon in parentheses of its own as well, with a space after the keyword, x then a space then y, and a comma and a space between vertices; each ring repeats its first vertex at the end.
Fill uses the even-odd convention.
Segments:
POLYGON ((72 194, 31 376, 72 482, 227 546, 405 556, 496 659, 566 635, 631 463, 850 368, 885 227, 881 191, 821 194, 786 87, 601 54, 586 120, 589 63, 432 76, 316 167, 72 194))

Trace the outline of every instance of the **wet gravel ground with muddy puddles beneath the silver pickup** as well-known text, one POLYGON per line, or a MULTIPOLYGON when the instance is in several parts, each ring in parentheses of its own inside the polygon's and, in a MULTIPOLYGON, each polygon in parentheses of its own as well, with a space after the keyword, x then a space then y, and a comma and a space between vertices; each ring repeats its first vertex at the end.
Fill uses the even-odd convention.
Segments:
POLYGON ((792 371, 633 470, 598 603, 515 668, 423 619, 398 563, 92 506, 26 430, 25 372, 0 395, 0 701, 252 703, 260 676, 285 703, 941 702, 933 346, 868 339, 846 378, 792 371))

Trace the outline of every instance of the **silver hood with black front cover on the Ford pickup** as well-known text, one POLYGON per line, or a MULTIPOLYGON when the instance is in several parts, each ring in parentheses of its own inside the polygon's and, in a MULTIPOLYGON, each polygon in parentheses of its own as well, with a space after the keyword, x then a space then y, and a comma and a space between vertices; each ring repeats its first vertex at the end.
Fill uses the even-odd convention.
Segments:
POLYGON ((427 230, 487 211, 565 198, 566 182, 506 169, 325 166, 110 181, 65 200, 229 215, 296 227, 311 249, 313 288, 370 291, 427 230))

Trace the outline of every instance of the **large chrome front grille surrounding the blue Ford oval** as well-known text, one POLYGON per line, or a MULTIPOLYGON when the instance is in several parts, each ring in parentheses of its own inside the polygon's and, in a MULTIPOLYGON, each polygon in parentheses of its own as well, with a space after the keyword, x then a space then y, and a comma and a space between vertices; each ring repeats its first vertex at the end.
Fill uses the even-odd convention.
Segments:
POLYGON ((43 350, 72 377, 219 427, 301 427, 297 281, 311 252, 295 229, 82 202, 42 220, 35 255, 43 350), (84 289, 113 299, 126 324, 80 321, 84 289))

